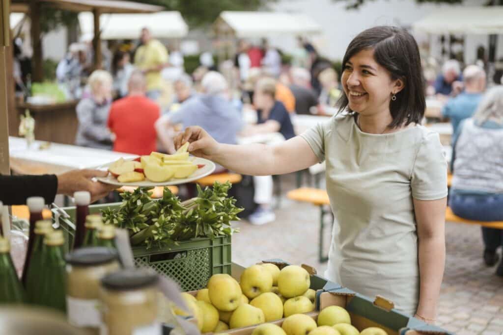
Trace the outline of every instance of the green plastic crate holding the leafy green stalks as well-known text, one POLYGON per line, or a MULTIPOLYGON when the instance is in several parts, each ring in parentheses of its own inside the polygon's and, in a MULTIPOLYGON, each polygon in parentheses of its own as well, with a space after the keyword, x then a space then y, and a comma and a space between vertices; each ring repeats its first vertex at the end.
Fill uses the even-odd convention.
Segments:
MULTIPOLYGON (((117 208, 121 203, 91 205, 91 214, 100 213, 101 209, 117 208)), ((70 231, 67 241, 73 240, 68 221, 75 222, 75 207, 62 208, 70 217, 60 216, 63 229, 70 231)), ((55 213, 56 210, 53 210, 55 213)), ((177 281, 183 291, 199 290, 206 287, 208 279, 217 273, 231 273, 231 237, 219 237, 214 240, 197 238, 179 242, 169 248, 133 247, 136 266, 148 266, 160 274, 177 281)))

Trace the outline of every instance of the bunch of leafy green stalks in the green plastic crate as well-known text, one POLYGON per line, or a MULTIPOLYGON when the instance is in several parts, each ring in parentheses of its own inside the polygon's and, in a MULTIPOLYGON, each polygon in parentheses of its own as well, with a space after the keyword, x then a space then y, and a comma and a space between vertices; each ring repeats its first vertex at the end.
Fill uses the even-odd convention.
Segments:
POLYGON ((162 198, 150 198, 151 188, 138 187, 133 192, 121 193, 123 202, 118 210, 102 210, 106 223, 127 229, 131 245, 164 247, 197 237, 230 236, 238 230, 231 221, 239 220, 242 208, 228 197, 229 182, 215 182, 204 190, 197 185, 197 197, 181 202, 165 187, 162 198))

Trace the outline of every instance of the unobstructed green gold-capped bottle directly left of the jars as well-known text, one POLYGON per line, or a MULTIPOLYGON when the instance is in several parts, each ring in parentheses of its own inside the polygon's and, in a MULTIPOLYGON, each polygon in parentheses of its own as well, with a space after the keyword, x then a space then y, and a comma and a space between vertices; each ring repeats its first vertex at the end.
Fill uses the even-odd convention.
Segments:
POLYGON ((52 231, 44 237, 42 270, 34 290, 33 303, 66 312, 66 263, 62 231, 52 231))

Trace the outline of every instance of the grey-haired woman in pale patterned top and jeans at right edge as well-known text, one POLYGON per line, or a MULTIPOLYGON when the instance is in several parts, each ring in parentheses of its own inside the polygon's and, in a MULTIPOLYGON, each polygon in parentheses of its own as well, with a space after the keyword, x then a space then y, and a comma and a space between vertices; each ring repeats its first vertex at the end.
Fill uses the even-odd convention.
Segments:
MULTIPOLYGON (((503 86, 489 89, 472 118, 460 125, 454 139, 453 178, 449 204, 461 217, 503 221, 503 86)), ((482 227, 484 262, 498 261, 503 231, 482 227)), ((503 261, 496 269, 503 277, 503 261)))

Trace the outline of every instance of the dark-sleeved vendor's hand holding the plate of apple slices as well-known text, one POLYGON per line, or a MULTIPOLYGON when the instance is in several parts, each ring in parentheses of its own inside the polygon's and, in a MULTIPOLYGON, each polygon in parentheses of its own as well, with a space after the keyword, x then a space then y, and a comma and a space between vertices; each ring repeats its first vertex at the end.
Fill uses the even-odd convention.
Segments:
POLYGON ((93 177, 106 177, 108 171, 100 170, 71 170, 57 176, 57 194, 73 196, 76 191, 88 191, 91 193, 91 202, 101 199, 117 188, 115 185, 92 181, 93 177))

